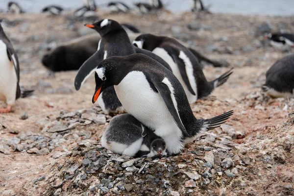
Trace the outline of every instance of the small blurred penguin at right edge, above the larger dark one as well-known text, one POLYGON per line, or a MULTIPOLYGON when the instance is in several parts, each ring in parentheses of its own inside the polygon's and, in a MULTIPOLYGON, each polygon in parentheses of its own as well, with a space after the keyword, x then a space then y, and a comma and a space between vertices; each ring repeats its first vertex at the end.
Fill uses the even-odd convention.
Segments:
POLYGON ((269 39, 270 45, 275 48, 294 47, 294 35, 290 33, 270 33, 266 39, 269 39))

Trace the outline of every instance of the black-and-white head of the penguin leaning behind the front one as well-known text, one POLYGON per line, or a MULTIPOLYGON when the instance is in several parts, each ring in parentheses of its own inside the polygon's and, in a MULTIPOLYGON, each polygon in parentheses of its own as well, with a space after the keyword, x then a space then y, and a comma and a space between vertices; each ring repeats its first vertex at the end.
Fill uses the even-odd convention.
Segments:
POLYGON ((161 38, 152 34, 139 35, 134 41, 133 45, 139 49, 147 49, 152 51, 161 42, 161 38))

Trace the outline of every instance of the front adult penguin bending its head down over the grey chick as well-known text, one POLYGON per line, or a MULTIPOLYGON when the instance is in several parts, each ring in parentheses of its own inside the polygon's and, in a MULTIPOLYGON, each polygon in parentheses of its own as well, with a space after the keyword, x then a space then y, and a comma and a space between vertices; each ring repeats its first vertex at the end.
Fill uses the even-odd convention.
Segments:
POLYGON ((224 123, 233 111, 208 120, 197 120, 181 83, 167 68, 144 54, 114 56, 103 60, 95 72, 92 102, 108 87, 124 109, 167 145, 169 153, 179 153, 202 130, 224 123))

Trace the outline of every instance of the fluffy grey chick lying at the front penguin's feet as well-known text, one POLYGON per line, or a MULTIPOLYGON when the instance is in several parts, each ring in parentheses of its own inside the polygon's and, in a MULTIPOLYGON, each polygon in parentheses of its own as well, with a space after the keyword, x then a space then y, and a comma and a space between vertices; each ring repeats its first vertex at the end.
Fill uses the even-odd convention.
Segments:
POLYGON ((164 140, 130 114, 111 119, 101 137, 101 146, 131 157, 167 155, 164 140), (143 131, 147 133, 144 137, 143 131))

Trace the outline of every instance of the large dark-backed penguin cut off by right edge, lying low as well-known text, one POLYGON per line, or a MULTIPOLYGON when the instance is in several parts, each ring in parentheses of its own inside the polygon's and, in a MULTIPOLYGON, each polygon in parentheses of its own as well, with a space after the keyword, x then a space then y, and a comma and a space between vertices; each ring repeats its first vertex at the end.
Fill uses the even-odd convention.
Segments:
POLYGON ((275 62, 266 73, 262 91, 272 98, 291 98, 294 93, 294 54, 275 62))

